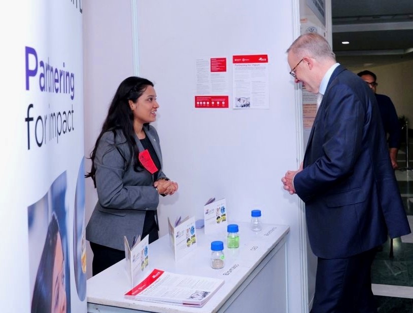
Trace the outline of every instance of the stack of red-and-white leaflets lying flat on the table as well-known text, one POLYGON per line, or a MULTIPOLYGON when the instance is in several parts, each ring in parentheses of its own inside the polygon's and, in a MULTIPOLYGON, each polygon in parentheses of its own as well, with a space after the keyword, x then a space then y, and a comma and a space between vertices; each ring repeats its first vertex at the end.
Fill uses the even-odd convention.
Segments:
POLYGON ((125 298, 201 307, 223 284, 222 279, 187 276, 155 268, 125 293, 125 298))

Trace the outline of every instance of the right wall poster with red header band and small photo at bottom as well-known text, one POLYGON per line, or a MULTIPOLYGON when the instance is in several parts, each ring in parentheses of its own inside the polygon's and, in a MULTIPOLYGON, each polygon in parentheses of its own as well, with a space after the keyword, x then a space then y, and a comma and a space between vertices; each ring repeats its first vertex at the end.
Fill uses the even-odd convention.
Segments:
POLYGON ((234 109, 268 109, 268 55, 232 56, 234 109))

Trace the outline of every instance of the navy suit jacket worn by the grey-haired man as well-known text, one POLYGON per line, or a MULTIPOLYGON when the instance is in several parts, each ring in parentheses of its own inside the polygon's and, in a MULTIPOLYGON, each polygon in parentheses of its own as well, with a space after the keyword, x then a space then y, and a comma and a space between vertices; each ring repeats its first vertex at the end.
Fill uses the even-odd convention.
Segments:
POLYGON ((330 77, 294 187, 315 255, 349 257, 410 232, 374 94, 341 65, 330 77))

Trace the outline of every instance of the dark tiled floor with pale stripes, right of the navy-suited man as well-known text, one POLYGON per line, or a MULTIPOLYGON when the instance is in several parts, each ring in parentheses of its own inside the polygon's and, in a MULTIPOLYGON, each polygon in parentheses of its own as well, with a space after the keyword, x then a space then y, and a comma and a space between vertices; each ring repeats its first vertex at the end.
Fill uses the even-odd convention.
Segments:
MULTIPOLYGON (((413 143, 410 142, 409 146, 408 165, 409 168, 413 168, 413 143)), ((405 148, 402 147, 398 154, 401 169, 406 168, 404 151, 405 148)), ((413 170, 398 170, 395 174, 406 213, 413 216, 413 170)), ((394 239, 393 255, 390 257, 388 240, 383 245, 383 251, 377 252, 371 268, 371 283, 376 284, 373 285, 373 293, 380 294, 374 296, 377 311, 413 313, 413 243, 402 242, 400 238, 394 239)))

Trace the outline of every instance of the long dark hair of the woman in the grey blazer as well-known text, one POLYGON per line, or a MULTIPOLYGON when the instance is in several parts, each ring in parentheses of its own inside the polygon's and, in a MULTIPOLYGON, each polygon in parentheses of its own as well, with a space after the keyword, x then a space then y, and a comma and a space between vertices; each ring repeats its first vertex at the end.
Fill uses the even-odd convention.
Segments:
MULTIPOLYGON (((133 112, 129 106, 129 100, 136 102, 136 100, 142 96, 148 86, 153 87, 153 83, 147 79, 137 76, 131 76, 120 83, 118 89, 116 90, 115 96, 109 106, 108 115, 102 126, 99 136, 96 139, 95 146, 92 153, 90 153, 90 159, 92 160, 92 167, 90 172, 85 175, 85 177, 91 177, 93 179, 94 186, 96 187, 96 169, 94 167, 94 160, 96 156, 97 145, 99 140, 105 132, 112 131, 114 136, 115 147, 122 158, 126 162, 126 167, 130 165, 130 160, 127 160, 123 152, 117 147, 118 144, 126 143, 129 152, 132 155, 137 155, 138 149, 136 142, 134 140, 134 129, 133 129, 133 112), (117 143, 116 135, 117 131, 121 131, 125 138, 124 142, 117 143)), ((134 158, 133 169, 137 172, 139 171, 140 162, 137 158, 134 158)))

